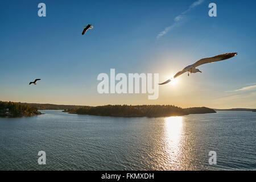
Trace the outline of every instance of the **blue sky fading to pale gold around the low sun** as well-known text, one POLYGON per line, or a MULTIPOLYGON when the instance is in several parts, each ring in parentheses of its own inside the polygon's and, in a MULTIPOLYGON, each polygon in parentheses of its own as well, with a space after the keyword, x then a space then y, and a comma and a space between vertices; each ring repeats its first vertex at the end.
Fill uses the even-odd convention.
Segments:
POLYGON ((255 1, 0 1, 0 100, 66 105, 256 108, 255 1), (46 4, 46 17, 38 4, 46 4), (210 17, 209 3, 217 16, 210 17), (81 35, 88 23, 93 29, 81 35), (238 52, 148 94, 99 94, 100 73, 166 81, 204 57, 238 52), (41 78, 38 85, 28 85, 41 78))

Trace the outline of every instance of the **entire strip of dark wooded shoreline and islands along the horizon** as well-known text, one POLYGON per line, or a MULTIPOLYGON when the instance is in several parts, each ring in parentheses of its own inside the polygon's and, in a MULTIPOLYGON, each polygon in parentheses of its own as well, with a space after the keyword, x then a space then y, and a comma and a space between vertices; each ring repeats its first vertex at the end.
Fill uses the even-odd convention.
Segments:
POLYGON ((1 102, 0 117, 31 117, 42 114, 38 110, 63 110, 69 114, 98 115, 106 117, 171 117, 189 114, 216 113, 216 111, 254 111, 256 109, 210 109, 208 107, 181 108, 174 105, 104 105, 77 106, 55 104, 28 104, 1 102), (10 108, 10 110, 9 110, 10 108))

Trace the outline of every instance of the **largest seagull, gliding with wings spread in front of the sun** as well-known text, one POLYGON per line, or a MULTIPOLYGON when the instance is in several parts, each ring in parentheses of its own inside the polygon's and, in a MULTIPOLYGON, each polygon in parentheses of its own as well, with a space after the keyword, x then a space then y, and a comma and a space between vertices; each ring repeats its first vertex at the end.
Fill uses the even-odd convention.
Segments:
MULTIPOLYGON (((200 59, 199 61, 196 61, 196 63, 188 65, 182 71, 177 72, 176 75, 174 76, 174 78, 180 76, 181 74, 183 74, 185 72, 188 72, 188 76, 189 76, 189 72, 191 72, 191 73, 200 72, 201 73, 201 71, 199 69, 196 69, 196 67, 198 67, 202 64, 206 64, 206 63, 213 63, 213 62, 216 62, 216 61, 229 59, 229 58, 234 57, 236 55, 237 55, 237 52, 232 52, 232 53, 224 53, 222 55, 217 55, 217 56, 214 56, 214 57, 207 57, 207 58, 204 58, 204 59, 200 59)), ((159 85, 167 84, 171 80, 172 79, 169 79, 169 80, 167 80, 167 81, 165 81, 165 82, 163 82, 162 84, 159 84, 159 85)))

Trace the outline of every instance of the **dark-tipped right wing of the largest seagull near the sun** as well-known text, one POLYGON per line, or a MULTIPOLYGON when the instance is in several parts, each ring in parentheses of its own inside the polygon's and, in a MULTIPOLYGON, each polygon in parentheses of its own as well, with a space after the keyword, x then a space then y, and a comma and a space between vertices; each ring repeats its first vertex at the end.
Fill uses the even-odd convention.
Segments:
POLYGON ((199 65, 206 64, 206 63, 213 63, 216 61, 221 61, 225 59, 229 59, 231 57, 234 57, 237 55, 237 52, 232 52, 232 53, 224 53, 222 55, 217 55, 214 57, 207 57, 204 59, 200 59, 199 61, 196 61, 196 63, 193 64, 193 67, 198 67, 199 65))

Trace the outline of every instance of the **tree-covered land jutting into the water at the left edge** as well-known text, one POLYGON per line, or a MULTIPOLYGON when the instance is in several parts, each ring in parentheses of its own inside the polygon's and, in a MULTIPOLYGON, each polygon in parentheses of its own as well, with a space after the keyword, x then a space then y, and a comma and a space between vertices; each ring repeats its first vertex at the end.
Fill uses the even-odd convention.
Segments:
POLYGON ((36 107, 21 105, 17 102, 0 101, 0 117, 23 117, 42 114, 36 107))

